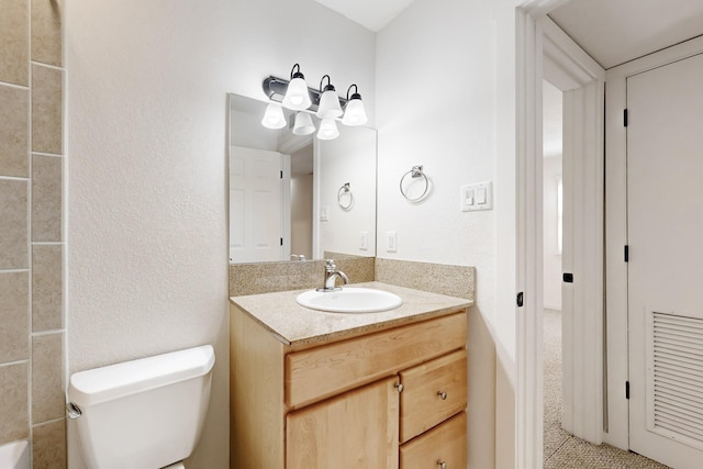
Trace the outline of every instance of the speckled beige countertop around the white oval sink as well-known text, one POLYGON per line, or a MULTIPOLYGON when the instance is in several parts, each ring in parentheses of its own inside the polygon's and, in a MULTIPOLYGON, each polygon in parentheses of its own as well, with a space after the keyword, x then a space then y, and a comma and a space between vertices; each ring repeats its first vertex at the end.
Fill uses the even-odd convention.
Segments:
POLYGON ((279 340, 300 347, 354 337, 368 332, 442 316, 468 308, 473 301, 381 282, 349 284, 390 291, 403 304, 380 313, 327 313, 299 305, 295 297, 306 290, 232 297, 230 301, 270 331, 279 340))

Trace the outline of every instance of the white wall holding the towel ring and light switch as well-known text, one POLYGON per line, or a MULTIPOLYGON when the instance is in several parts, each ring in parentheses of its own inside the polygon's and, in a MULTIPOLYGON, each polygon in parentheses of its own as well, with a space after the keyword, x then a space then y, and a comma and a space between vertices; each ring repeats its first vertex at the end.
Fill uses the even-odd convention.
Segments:
POLYGON ((469 466, 514 465, 515 7, 415 0, 378 36, 378 256, 477 268, 469 314, 469 466), (424 165, 432 192, 399 181, 424 165), (459 186, 493 181, 494 210, 459 211, 459 186), (473 380, 473 381, 472 381, 473 380))

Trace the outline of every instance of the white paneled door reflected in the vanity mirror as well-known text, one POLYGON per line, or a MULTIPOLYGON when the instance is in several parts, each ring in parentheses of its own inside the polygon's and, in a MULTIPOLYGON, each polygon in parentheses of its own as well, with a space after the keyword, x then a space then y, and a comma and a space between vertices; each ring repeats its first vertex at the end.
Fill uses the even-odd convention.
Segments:
POLYGON ((230 261, 282 260, 282 158, 230 148, 230 261))

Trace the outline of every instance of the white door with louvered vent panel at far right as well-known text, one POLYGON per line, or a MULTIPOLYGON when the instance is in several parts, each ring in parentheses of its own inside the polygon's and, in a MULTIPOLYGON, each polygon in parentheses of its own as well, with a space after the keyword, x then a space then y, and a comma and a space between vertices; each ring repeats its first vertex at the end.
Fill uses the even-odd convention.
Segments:
POLYGON ((631 449, 703 467, 703 55, 627 79, 631 449))

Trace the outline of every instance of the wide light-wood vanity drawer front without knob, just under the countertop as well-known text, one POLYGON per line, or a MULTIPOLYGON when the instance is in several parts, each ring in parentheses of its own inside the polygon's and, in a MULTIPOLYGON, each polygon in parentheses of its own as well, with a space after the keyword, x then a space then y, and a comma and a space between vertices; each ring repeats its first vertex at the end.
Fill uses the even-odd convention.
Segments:
POLYGON ((320 401, 466 346, 465 311, 286 356, 286 404, 320 401))

